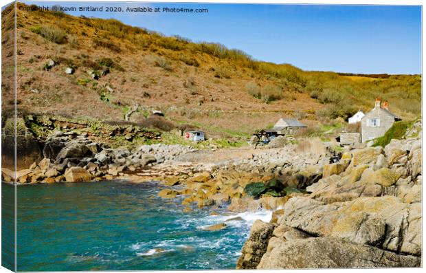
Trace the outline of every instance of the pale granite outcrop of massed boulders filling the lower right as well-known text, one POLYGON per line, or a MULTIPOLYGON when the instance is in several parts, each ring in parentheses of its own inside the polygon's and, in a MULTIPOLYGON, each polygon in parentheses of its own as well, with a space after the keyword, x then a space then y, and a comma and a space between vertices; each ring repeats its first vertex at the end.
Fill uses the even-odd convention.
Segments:
POLYGON ((384 149, 355 149, 324 166, 309 194, 254 225, 237 268, 418 267, 421 187, 417 122, 384 149), (255 236, 265 231, 270 236, 255 236))

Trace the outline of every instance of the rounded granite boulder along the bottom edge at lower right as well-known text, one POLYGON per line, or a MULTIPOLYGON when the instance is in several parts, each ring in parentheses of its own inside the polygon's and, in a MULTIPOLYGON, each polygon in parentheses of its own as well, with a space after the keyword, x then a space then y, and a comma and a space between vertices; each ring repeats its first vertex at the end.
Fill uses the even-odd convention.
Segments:
POLYGON ((282 241, 257 269, 419 267, 421 259, 326 237, 282 241))

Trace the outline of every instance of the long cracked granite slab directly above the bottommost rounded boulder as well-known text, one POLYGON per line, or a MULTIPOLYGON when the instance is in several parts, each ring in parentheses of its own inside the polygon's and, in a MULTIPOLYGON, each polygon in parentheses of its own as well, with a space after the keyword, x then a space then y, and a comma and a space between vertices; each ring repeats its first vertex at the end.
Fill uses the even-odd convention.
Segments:
POLYGON ((341 238, 419 256, 421 207, 418 204, 406 204, 390 195, 333 204, 294 197, 284 205, 281 223, 314 236, 341 238))

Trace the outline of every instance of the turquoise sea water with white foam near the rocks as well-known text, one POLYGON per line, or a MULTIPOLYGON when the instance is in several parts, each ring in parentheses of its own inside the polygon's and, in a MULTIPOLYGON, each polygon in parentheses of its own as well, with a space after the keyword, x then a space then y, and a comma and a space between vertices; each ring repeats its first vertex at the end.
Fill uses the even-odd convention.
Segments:
MULTIPOLYGON (((2 194, 12 195, 3 184, 2 194)), ((181 199, 161 199, 155 182, 91 182, 20 186, 17 269, 184 270, 235 268, 255 219, 226 208, 182 212, 181 199), (225 230, 205 226, 227 221, 225 230)), ((183 198, 183 197, 181 197, 183 198)))

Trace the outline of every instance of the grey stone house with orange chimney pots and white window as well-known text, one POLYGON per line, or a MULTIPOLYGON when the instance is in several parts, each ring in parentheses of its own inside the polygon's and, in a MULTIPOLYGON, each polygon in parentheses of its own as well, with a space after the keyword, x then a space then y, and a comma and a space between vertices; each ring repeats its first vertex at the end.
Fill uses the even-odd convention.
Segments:
POLYGON ((361 140, 366 142, 374 138, 379 138, 392 127, 396 120, 401 120, 388 109, 387 101, 380 105, 380 99, 377 98, 374 109, 366 113, 361 120, 361 140))

